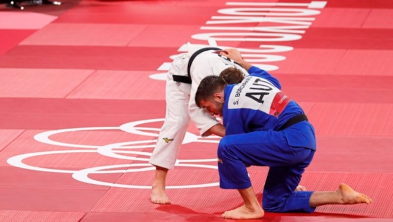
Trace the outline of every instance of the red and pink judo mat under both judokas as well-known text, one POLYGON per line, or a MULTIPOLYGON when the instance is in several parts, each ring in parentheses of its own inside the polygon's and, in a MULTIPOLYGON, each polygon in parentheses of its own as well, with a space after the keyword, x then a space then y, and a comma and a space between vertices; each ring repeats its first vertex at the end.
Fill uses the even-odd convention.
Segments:
MULTIPOLYGON (((190 125, 150 202, 148 164, 165 117, 165 74, 186 43, 236 47, 276 76, 313 124, 301 184, 346 183, 369 205, 247 221, 393 220, 393 1, 65 0, 0 5, 0 221, 230 221, 218 137, 190 125)), ((250 167, 259 200, 267 167, 250 167)), ((241 221, 241 220, 240 220, 241 221)))

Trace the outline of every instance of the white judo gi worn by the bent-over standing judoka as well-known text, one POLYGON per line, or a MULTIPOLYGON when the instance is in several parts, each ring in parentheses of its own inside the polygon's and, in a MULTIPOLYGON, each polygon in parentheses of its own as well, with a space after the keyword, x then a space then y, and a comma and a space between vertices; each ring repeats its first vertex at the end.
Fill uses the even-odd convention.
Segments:
POLYGON ((172 75, 187 76, 188 61, 194 52, 183 53, 173 59, 167 74, 165 121, 150 157, 150 164, 173 168, 190 119, 200 135, 219 124, 216 118, 195 104, 195 94, 203 78, 210 75, 218 76, 228 67, 236 67, 248 75, 240 65, 213 52, 214 50, 205 51, 193 60, 190 69, 192 84, 175 82, 172 75))

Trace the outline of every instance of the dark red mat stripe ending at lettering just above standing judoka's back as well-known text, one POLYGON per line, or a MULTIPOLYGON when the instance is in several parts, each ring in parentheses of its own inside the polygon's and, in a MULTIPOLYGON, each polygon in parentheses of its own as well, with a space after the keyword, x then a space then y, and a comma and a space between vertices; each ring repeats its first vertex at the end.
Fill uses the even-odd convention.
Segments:
POLYGON ((177 48, 18 46, 0 57, 0 67, 154 71, 176 54, 177 48))

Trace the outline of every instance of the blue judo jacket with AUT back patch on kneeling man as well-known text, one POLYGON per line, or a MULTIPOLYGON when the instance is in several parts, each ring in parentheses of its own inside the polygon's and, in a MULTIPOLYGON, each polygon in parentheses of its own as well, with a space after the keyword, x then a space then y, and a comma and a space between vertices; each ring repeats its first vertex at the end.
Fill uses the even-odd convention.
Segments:
MULTIPOLYGON (((226 135, 278 131, 291 117, 304 114, 295 101, 281 92, 281 84, 275 77, 255 66, 249 73, 241 83, 224 89, 226 135)), ((314 129, 309 122, 299 122, 283 132, 289 145, 316 149, 314 129)))

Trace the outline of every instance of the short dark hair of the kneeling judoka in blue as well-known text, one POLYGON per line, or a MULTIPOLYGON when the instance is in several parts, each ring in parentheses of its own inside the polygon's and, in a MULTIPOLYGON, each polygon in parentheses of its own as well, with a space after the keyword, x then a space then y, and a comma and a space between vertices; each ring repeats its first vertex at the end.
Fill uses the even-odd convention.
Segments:
POLYGON ((214 96, 224 89, 226 82, 219 76, 207 76, 199 84, 195 94, 195 103, 200 108, 200 102, 214 96))

